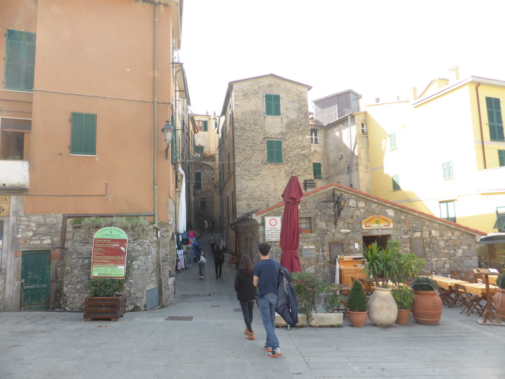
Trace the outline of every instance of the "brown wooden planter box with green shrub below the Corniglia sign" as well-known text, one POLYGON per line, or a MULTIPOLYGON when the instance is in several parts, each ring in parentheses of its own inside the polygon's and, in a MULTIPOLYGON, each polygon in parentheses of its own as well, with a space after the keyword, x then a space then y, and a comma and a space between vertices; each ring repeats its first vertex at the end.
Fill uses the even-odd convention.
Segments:
POLYGON ((84 299, 84 320, 110 318, 117 321, 126 313, 125 286, 133 271, 133 254, 126 256, 124 279, 93 277, 88 279, 86 288, 89 295, 84 299))

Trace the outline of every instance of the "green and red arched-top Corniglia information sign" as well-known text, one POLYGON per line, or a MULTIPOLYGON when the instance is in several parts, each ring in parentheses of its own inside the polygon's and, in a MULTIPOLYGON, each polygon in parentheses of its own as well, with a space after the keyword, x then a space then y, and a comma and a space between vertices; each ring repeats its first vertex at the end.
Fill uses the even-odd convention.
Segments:
POLYGON ((93 235, 91 253, 91 277, 123 279, 126 270, 128 236, 113 226, 98 230, 93 235))

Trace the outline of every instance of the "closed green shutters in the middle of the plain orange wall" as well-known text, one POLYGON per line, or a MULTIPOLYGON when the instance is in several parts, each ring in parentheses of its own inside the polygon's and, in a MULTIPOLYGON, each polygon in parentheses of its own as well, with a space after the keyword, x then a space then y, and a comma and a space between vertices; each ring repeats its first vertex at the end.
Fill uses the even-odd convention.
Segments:
POLYGON ((72 112, 70 154, 96 155, 96 115, 72 112))

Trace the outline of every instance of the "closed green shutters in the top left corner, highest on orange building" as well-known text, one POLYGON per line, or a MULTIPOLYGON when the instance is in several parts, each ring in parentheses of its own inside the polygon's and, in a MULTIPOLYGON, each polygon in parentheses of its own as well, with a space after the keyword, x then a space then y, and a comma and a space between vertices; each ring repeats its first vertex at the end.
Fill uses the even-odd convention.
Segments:
POLYGON ((4 88, 33 90, 35 33, 7 29, 4 88))

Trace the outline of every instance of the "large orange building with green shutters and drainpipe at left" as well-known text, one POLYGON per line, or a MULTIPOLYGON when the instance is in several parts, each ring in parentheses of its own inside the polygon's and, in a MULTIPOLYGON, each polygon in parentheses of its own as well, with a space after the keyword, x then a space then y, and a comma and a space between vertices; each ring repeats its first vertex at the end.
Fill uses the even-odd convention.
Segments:
POLYGON ((195 131, 174 64, 182 0, 0 0, 0 9, 0 197, 9 205, 0 310, 23 309, 30 251, 50 257, 54 303, 76 215, 148 217, 175 266, 179 147, 174 138, 167 149, 161 129, 168 119, 195 131))

